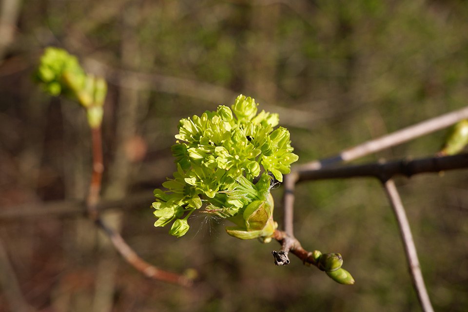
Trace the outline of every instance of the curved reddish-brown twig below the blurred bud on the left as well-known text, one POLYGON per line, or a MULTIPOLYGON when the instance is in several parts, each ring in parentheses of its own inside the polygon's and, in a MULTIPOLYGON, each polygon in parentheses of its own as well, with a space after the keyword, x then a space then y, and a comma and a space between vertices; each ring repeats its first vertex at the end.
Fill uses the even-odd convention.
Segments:
POLYGON ((93 171, 89 187, 89 194, 86 200, 88 216, 95 221, 99 228, 109 236, 112 244, 117 252, 134 268, 143 273, 145 276, 162 280, 166 282, 176 283, 182 286, 190 286, 192 280, 185 276, 175 273, 169 273, 157 269, 151 264, 141 259, 137 253, 125 242, 122 236, 106 225, 106 223, 99 217, 97 205, 99 201, 99 192, 101 190, 102 172, 104 165, 102 162, 102 133, 101 128, 92 129, 92 148, 93 148, 93 171))

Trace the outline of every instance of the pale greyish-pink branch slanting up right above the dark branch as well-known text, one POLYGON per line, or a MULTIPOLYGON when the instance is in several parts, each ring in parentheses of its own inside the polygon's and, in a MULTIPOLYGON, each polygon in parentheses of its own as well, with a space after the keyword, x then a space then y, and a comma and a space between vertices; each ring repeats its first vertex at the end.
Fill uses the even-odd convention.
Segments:
POLYGON ((395 131, 387 136, 379 137, 367 141, 363 144, 344 150, 337 156, 325 158, 323 160, 312 161, 303 165, 293 166, 292 171, 316 170, 326 166, 331 166, 342 161, 351 161, 363 157, 391 146, 395 146, 417 137, 422 137, 437 130, 451 126, 462 119, 468 118, 468 107, 447 113, 438 117, 422 121, 407 128, 395 131))

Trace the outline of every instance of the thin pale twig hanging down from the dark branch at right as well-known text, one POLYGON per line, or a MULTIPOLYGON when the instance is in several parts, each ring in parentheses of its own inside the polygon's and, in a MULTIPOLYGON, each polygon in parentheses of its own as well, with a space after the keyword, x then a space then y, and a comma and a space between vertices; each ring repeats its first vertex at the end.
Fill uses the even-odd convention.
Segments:
POLYGON ((389 197, 391 207, 398 221, 401 238, 403 245, 405 246, 405 254, 409 265, 409 273, 411 275, 414 289, 417 292, 419 302, 421 303, 423 311, 433 312, 434 309, 430 304, 428 291, 424 285, 423 274, 421 273, 418 254, 416 253, 416 246, 414 245, 411 229, 409 228, 408 218, 406 216, 403 203, 401 202, 400 195, 398 194, 398 190, 396 189, 393 180, 382 180, 382 183, 385 187, 385 191, 389 197))

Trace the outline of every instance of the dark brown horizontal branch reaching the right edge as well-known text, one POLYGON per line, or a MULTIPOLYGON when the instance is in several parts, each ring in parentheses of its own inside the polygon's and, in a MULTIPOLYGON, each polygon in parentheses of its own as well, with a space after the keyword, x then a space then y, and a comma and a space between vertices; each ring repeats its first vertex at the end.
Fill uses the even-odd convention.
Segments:
POLYGON ((466 168, 468 168, 468 153, 414 160, 403 159, 392 162, 321 168, 317 170, 305 169, 295 173, 295 175, 297 176, 297 182, 354 177, 389 179, 396 175, 410 177, 421 173, 434 173, 466 168))

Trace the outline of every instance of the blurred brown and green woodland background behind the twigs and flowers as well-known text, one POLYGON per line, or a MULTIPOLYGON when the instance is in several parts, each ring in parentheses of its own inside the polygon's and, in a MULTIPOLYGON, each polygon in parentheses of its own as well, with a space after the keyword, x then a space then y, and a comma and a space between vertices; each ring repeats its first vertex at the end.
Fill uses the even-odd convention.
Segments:
MULTIPOLYGON (((296 237, 341 253, 353 286, 294 257, 276 267, 277 243, 235 239, 205 216, 171 237, 153 227, 152 190, 175 170, 178 120, 240 93, 280 113, 299 163, 467 105, 468 1, 0 2, 0 311, 420 311, 377 181, 296 192, 296 237), (90 133, 76 103, 32 81, 49 45, 109 83, 102 195, 120 204, 104 218, 145 260, 197 270, 195 287, 146 279, 80 212, 90 133)), ((434 155, 444 135, 359 162, 434 155)), ((435 310, 467 311, 466 172, 396 182, 435 310)))

